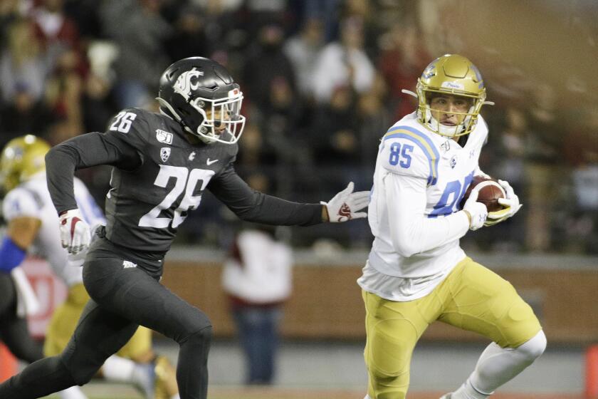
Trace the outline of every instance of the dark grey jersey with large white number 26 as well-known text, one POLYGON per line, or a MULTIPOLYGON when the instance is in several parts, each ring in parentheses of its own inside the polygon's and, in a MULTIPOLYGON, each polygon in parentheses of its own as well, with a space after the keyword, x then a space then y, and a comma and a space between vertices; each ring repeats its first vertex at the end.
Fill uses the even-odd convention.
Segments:
POLYGON ((115 167, 106 198, 106 237, 135 249, 164 251, 201 202, 210 180, 235 158, 237 145, 193 145, 167 116, 123 110, 107 135, 134 147, 141 165, 115 167))

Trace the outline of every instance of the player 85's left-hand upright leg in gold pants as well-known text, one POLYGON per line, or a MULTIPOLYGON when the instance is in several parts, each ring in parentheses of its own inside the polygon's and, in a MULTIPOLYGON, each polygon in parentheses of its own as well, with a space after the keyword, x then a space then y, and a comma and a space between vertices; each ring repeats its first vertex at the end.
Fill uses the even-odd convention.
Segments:
POLYGON ((366 308, 368 395, 403 399, 409 388, 411 354, 428 323, 418 301, 394 302, 362 291, 366 308))

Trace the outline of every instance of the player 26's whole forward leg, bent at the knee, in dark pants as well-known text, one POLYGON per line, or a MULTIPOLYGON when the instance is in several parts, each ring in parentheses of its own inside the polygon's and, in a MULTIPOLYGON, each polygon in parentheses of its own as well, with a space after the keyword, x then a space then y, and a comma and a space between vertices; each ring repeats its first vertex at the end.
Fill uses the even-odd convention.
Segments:
POLYGON ((212 329, 203 312, 159 284, 158 276, 150 276, 141 266, 123 268, 122 259, 86 262, 83 279, 92 299, 103 307, 177 341, 181 397, 206 398, 212 329))

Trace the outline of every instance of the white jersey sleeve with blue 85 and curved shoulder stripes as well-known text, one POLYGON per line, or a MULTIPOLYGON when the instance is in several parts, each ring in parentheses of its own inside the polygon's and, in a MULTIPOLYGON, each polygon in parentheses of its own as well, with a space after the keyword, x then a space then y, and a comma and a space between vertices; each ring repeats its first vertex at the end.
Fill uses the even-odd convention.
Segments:
POLYGON ((382 138, 378 158, 382 167, 395 175, 418 177, 429 186, 438 179, 439 152, 430 138, 417 130, 390 130, 382 138))

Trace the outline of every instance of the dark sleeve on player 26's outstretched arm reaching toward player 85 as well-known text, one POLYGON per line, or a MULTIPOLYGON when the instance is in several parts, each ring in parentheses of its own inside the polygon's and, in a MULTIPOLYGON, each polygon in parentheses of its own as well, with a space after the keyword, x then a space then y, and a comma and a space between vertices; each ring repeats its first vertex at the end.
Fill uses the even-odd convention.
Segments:
POLYGON ((279 226, 322 222, 322 205, 285 201, 251 189, 232 165, 211 180, 209 190, 240 219, 279 226))

